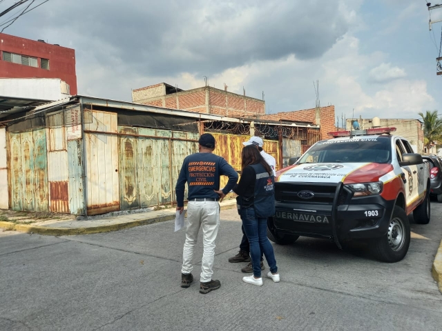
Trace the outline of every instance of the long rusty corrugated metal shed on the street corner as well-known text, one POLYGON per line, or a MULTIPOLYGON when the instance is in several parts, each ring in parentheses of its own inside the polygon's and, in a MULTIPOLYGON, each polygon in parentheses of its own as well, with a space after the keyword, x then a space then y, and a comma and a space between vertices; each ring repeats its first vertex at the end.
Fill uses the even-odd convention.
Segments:
MULTIPOLYGON (((251 135, 265 138, 264 149, 278 169, 288 157, 300 156, 301 146, 319 139, 319 128, 308 123, 234 119, 83 96, 3 112, 0 125, 8 208, 84 215, 175 203, 182 161, 198 151, 203 132, 215 136, 215 153, 236 170, 242 142, 251 135)), ((0 135, 0 146, 1 141, 0 135)), ((2 169, 0 163, 0 187, 5 186, 2 169)))

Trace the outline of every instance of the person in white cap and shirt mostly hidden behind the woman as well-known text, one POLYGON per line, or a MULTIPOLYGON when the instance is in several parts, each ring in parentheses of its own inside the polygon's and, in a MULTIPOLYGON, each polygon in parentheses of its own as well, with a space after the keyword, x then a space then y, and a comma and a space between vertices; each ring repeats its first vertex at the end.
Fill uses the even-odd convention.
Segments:
MULTIPOLYGON (((262 146, 264 145, 264 141, 260 137, 251 137, 249 141, 246 141, 245 143, 242 143, 245 146, 248 145, 254 145, 258 150, 260 151, 260 154, 265 159, 265 161, 270 165, 271 170, 273 170, 273 176, 276 177, 276 160, 271 155, 267 154, 264 150, 262 150, 262 146)), ((234 257, 229 258, 230 263, 237 263, 237 262, 250 262, 247 264, 244 268, 241 269, 242 272, 250 273, 253 272, 253 266, 251 265, 250 260, 250 247, 249 247, 249 239, 247 239, 247 236, 244 232, 244 227, 241 227, 242 230, 242 240, 240 243, 240 251, 238 254, 236 254, 234 257)), ((262 259, 262 253, 261 253, 261 270, 264 270, 264 262, 262 259)))

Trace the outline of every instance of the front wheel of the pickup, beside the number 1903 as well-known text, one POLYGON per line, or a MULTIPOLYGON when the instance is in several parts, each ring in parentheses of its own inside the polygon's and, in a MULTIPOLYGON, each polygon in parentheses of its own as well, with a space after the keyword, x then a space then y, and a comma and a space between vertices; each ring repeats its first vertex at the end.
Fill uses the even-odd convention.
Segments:
POLYGON ((401 261, 407 255, 410 237, 407 214, 405 210, 395 205, 387 234, 374 239, 370 246, 377 259, 394 263, 401 261))

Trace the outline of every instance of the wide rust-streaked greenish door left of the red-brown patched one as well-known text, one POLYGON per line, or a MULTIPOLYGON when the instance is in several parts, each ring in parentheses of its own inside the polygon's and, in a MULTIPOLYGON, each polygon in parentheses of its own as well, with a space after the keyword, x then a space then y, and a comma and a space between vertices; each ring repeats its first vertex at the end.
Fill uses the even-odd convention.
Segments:
POLYGON ((12 210, 49 211, 46 129, 10 133, 12 210))

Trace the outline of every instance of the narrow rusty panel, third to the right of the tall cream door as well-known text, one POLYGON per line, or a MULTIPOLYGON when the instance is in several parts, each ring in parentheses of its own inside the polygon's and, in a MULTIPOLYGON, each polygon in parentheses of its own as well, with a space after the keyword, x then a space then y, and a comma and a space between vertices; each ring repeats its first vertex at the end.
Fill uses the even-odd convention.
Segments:
MULTIPOLYGON (((169 130, 157 130, 157 137, 172 137, 172 133, 169 130)), ((161 169, 161 181, 160 181, 160 203, 165 204, 171 202, 171 188, 172 188, 172 182, 171 182, 171 153, 172 153, 172 146, 171 141, 169 139, 158 139, 157 143, 158 151, 161 151, 158 153, 159 159, 154 159, 155 162, 160 162, 160 169, 161 169)))

